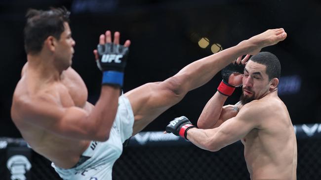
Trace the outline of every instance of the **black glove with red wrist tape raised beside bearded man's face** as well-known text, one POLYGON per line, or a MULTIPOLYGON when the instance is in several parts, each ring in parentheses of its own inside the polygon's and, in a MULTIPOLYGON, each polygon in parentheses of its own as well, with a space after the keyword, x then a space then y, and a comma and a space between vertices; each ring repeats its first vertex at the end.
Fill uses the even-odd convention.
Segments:
POLYGON ((218 86, 217 91, 220 92, 223 95, 230 96, 235 90, 235 87, 229 84, 229 78, 231 74, 233 73, 241 73, 244 72, 245 65, 240 63, 232 62, 228 66, 224 67, 221 70, 221 74, 223 77, 223 80, 221 84, 218 86))

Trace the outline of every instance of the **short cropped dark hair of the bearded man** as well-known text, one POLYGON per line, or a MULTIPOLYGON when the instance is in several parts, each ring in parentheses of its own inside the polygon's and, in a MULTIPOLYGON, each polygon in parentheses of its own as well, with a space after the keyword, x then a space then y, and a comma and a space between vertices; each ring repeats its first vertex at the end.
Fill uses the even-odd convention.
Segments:
POLYGON ((269 76, 269 80, 273 78, 280 79, 281 76, 281 64, 278 57, 269 52, 260 52, 250 58, 253 62, 263 64, 266 66, 266 73, 269 76))

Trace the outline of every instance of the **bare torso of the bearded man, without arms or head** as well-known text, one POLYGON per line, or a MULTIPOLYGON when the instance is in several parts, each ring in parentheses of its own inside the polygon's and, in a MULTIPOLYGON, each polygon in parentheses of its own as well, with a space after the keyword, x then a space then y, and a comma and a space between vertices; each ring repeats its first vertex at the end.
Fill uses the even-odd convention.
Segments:
MULTIPOLYGON (((250 102, 265 104, 266 112, 260 118, 260 127, 252 129, 241 142, 250 177, 257 179, 296 180, 297 145, 294 128, 286 106, 272 92, 250 102)), ((250 104, 249 103, 249 104, 250 104)))

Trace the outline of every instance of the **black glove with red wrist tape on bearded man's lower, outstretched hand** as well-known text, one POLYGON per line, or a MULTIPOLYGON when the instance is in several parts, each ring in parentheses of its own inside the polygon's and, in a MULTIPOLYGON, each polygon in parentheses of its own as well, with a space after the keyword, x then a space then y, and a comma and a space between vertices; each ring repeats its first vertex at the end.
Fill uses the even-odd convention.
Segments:
POLYGON ((181 136, 187 139, 187 130, 193 127, 196 126, 192 125, 191 121, 185 116, 181 116, 169 122, 169 124, 166 126, 166 132, 173 133, 176 136, 181 136))

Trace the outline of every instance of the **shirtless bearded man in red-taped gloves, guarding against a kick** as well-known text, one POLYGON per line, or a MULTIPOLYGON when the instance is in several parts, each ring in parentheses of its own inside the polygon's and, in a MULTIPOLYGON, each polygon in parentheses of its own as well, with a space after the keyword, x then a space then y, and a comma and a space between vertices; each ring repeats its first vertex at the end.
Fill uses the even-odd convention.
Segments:
POLYGON ((198 120, 202 129, 180 117, 171 121, 166 131, 211 151, 241 140, 251 179, 296 180, 296 137, 286 106, 278 97, 280 61, 272 53, 260 52, 244 68, 241 64, 247 58, 222 70, 223 81, 198 120), (241 101, 223 106, 240 85, 241 101))

